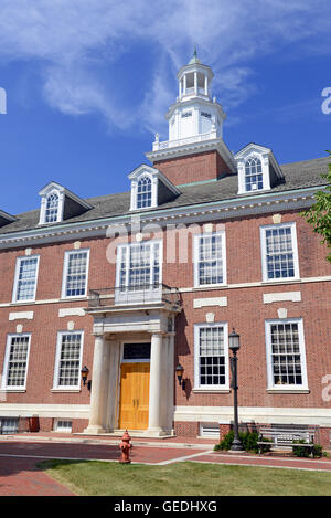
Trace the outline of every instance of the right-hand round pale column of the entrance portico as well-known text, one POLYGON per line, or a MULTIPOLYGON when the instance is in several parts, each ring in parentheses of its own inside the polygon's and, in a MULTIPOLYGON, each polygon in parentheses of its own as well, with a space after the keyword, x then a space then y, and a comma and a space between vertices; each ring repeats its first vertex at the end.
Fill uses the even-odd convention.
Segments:
POLYGON ((150 348, 149 378, 149 424, 147 434, 162 435, 161 426, 161 378, 162 378, 162 335, 153 332, 150 348))

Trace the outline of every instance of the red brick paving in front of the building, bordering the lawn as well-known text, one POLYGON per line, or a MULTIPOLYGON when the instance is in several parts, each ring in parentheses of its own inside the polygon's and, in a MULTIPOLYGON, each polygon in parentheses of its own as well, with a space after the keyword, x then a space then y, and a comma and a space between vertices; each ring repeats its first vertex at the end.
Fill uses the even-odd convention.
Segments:
MULTIPOLYGON (((99 459, 117 462, 120 451, 117 444, 105 438, 85 438, 74 442, 70 437, 43 436, 14 437, 2 436, 0 441, 0 496, 70 496, 73 495, 66 487, 53 480, 36 463, 46 458, 66 459, 99 459)), ((280 457, 276 455, 228 454, 213 452, 209 443, 194 443, 182 445, 173 441, 146 441, 135 444, 131 450, 131 461, 152 465, 167 465, 175 462, 191 461, 201 463, 236 464, 250 466, 284 467, 299 469, 319 469, 331 472, 330 457, 321 459, 280 457)))

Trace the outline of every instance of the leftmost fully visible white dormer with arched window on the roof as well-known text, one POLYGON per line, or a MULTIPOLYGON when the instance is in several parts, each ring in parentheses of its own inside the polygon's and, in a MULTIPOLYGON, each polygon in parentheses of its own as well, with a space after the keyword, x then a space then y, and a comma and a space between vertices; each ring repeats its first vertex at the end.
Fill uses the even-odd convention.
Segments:
POLYGON ((58 223, 92 209, 89 203, 55 181, 41 189, 39 195, 41 197, 39 224, 58 223))

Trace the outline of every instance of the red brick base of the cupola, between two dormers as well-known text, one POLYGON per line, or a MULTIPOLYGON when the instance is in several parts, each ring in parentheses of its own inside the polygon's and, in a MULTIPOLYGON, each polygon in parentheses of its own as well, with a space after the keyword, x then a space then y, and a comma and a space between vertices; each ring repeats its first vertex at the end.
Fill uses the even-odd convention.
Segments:
POLYGON ((217 151, 206 151, 186 157, 160 160, 153 163, 174 184, 214 180, 231 172, 217 151))

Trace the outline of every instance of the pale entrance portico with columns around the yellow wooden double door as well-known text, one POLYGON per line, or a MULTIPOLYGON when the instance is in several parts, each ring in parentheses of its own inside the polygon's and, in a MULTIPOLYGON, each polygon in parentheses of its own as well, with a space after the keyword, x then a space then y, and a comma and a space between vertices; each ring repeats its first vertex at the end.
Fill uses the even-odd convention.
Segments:
MULTIPOLYGON (((170 299, 121 306, 118 304, 105 306, 105 302, 102 305, 100 299, 98 299, 97 306, 87 309, 87 313, 94 317, 95 347, 89 423, 84 431, 85 433, 102 434, 118 430, 119 424, 124 422, 120 419, 120 410, 124 411, 125 399, 132 400, 132 420, 127 419, 126 422, 132 422, 136 425, 137 423, 143 424, 145 417, 134 419, 137 405, 139 404, 142 409, 138 385, 131 387, 131 392, 127 392, 126 398, 124 398, 124 392, 121 394, 121 390, 128 390, 125 389, 128 382, 125 384, 122 377, 128 376, 128 371, 130 371, 130 377, 134 379, 135 371, 139 371, 140 374, 138 376, 145 379, 142 381, 145 388, 141 390, 146 391, 147 377, 149 377, 149 393, 145 395, 145 403, 148 406, 146 406, 143 434, 148 436, 172 434, 174 317, 180 310, 180 304, 170 299), (141 368, 138 370, 121 368, 121 366, 125 366, 124 347, 130 342, 150 343, 149 369, 148 366, 143 368, 142 363, 139 363, 141 368), (141 374, 142 371, 143 376, 141 374), (136 394, 134 393, 135 390, 137 391, 136 394)), ((140 381, 138 381, 139 383, 140 381)), ((130 401, 128 402, 130 403, 130 401)), ((128 405, 126 412, 127 415, 130 412, 128 405)), ((141 432, 141 430, 137 431, 141 432)))

